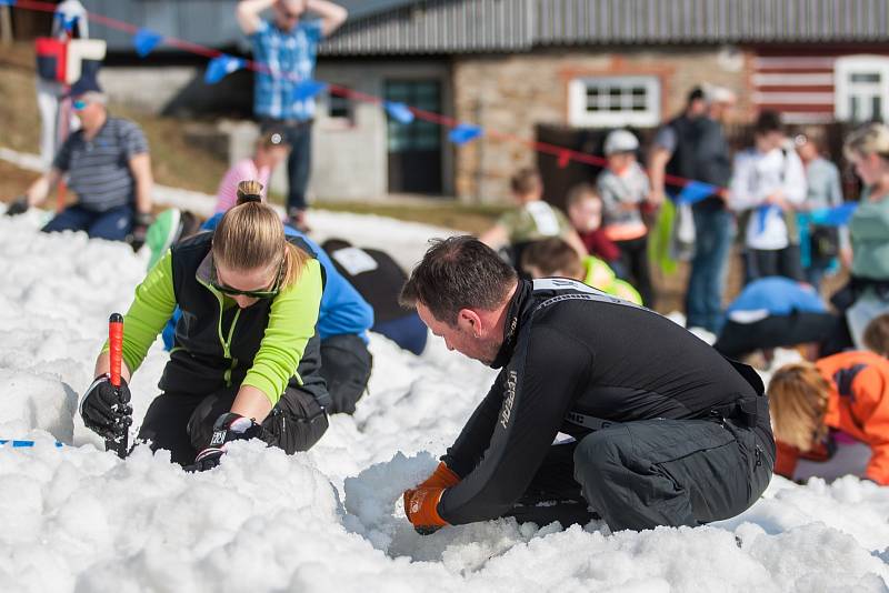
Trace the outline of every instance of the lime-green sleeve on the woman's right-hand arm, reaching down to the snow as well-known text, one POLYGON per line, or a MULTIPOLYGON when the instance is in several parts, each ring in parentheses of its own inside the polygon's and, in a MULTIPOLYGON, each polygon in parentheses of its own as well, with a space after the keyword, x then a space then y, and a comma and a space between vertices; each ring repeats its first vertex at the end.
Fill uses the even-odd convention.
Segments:
POLYGON ((241 385, 260 390, 272 406, 281 399, 290 378, 297 374, 306 344, 314 335, 321 291, 321 264, 311 260, 299 281, 271 303, 266 334, 241 385))

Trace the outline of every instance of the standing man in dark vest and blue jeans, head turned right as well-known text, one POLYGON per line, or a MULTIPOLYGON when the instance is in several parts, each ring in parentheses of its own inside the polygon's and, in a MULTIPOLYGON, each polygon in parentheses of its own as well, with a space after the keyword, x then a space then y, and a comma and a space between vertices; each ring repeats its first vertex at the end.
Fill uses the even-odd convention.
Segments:
MULTIPOLYGON (((649 157, 651 202, 665 195, 665 173, 726 188, 731 178, 722 121, 735 104, 723 88, 693 89, 686 111, 661 128, 649 157)), ((733 221, 722 192, 695 203, 695 257, 686 291, 686 323, 716 333, 722 318, 722 287, 733 221)))

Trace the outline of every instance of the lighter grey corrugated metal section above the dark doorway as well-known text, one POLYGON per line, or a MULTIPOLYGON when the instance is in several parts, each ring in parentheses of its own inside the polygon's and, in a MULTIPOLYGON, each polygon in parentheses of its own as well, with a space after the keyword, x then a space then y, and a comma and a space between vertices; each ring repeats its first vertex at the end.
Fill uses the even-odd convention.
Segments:
POLYGON ((430 0, 342 27, 326 56, 527 50, 535 0, 430 0))

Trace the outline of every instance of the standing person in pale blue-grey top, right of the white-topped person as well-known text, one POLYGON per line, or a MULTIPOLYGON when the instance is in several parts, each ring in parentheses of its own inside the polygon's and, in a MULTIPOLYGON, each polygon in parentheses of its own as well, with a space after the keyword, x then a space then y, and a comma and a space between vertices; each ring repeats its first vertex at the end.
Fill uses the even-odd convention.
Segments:
MULTIPOLYGON (((842 205, 842 187, 837 165, 823 158, 818 139, 799 134, 795 139, 797 154, 806 168, 805 212, 815 212, 842 205)), ((809 264, 806 280, 818 289, 825 273, 833 265, 839 252, 849 248, 849 230, 846 227, 826 227, 812 222, 808 228, 809 264)))

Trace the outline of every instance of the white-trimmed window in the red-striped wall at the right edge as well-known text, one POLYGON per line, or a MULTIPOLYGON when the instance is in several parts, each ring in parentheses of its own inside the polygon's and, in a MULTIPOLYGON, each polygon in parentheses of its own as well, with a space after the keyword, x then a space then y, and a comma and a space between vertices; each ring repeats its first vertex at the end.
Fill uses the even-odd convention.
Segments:
POLYGON ((889 58, 848 56, 833 64, 833 111, 838 120, 889 119, 889 58))

